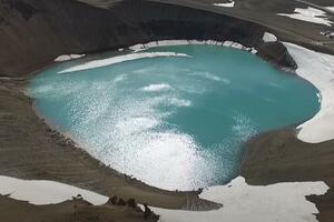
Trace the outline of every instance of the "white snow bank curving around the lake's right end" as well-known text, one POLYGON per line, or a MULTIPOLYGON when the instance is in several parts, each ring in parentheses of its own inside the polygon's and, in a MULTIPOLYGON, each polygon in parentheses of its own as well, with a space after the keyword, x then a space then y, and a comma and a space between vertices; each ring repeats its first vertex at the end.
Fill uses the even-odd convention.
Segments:
POLYGON ((321 92, 321 110, 297 128, 298 139, 310 143, 334 139, 334 57, 292 43, 285 47, 298 64, 297 74, 321 92))

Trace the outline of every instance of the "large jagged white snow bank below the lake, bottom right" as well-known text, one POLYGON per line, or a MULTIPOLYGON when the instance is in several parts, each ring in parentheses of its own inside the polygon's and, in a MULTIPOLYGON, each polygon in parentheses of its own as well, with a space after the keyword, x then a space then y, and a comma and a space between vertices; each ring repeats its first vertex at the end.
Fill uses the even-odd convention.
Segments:
POLYGON ((305 195, 324 194, 328 186, 324 182, 277 183, 253 186, 244 178, 227 185, 212 186, 200 198, 224 204, 215 211, 177 211, 153 208, 160 222, 315 222, 315 205, 305 195))

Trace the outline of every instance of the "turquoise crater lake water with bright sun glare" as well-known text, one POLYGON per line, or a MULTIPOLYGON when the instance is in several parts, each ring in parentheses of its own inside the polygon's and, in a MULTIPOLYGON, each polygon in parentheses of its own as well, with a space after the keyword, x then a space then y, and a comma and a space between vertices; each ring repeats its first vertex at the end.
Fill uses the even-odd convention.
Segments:
POLYGON ((226 183, 238 173, 243 142, 320 109, 313 85, 248 52, 213 46, 145 52, 189 57, 67 73, 59 72, 85 60, 61 63, 36 75, 28 91, 37 110, 90 154, 151 185, 226 183))

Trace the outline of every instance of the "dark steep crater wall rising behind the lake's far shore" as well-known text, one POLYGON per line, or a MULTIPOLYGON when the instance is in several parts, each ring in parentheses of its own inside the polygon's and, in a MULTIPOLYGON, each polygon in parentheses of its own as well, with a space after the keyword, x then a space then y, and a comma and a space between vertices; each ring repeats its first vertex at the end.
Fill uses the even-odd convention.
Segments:
POLYGON ((0 0, 0 74, 22 77, 59 54, 114 50, 166 39, 232 40, 289 67, 282 46, 262 41, 264 28, 237 18, 149 0, 109 9, 76 0, 0 0))

